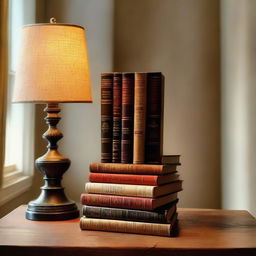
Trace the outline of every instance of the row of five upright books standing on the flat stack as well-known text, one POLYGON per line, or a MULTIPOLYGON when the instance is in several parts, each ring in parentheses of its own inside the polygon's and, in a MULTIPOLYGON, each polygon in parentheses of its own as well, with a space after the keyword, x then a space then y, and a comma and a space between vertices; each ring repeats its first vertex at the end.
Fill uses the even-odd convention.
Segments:
POLYGON ((101 162, 158 164, 162 155, 161 72, 101 74, 101 162))

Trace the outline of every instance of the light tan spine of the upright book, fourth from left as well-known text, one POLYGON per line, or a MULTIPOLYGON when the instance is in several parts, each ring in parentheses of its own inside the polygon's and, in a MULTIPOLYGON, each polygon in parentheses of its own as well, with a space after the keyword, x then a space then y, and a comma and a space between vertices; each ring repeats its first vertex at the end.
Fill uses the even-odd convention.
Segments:
POLYGON ((134 78, 134 142, 133 163, 145 160, 145 125, 147 100, 147 73, 135 73, 134 78))

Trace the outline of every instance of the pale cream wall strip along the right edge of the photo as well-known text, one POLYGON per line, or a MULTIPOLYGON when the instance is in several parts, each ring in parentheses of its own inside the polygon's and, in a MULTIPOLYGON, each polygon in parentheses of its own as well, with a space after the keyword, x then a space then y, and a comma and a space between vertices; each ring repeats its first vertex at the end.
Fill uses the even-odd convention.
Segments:
POLYGON ((223 0, 223 207, 256 216, 256 1, 223 0))

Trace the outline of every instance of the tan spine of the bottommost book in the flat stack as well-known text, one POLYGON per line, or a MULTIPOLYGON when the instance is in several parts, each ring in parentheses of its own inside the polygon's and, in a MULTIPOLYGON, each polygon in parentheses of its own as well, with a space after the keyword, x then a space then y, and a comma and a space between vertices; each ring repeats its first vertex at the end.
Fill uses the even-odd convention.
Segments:
POLYGON ((80 228, 82 230, 99 230, 159 236, 170 236, 171 233, 170 224, 92 219, 86 217, 80 219, 80 228))

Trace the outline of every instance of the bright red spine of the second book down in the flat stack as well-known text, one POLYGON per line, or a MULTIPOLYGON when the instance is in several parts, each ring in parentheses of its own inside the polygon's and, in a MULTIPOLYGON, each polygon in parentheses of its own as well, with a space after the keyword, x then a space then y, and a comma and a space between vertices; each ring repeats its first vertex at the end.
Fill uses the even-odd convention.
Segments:
POLYGON ((109 174, 109 173, 90 173, 89 181, 120 183, 134 185, 157 186, 158 176, 156 175, 132 175, 132 174, 109 174))

